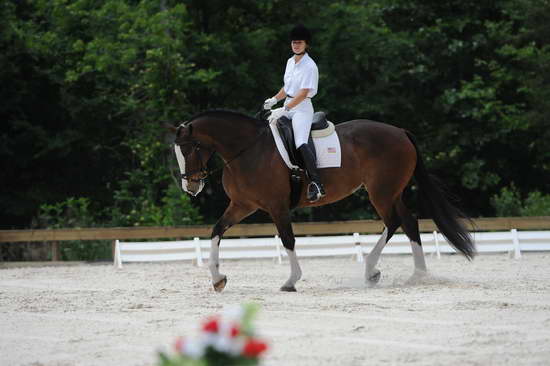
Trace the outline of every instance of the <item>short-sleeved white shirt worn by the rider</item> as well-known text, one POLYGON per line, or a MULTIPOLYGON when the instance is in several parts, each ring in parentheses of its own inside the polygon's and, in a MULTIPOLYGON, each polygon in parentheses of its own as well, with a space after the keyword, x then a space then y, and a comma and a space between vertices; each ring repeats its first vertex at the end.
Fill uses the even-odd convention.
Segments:
POLYGON ((284 89, 286 95, 296 96, 300 89, 309 89, 307 96, 313 98, 317 94, 319 70, 317 64, 306 53, 300 62, 294 62, 294 56, 286 62, 284 89))

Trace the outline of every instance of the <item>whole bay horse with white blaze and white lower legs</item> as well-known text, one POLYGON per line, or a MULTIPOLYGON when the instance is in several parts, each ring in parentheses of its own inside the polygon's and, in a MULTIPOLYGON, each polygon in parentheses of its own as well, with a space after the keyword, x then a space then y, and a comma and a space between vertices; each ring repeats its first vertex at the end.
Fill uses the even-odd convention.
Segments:
MULTIPOLYGON (((222 183, 230 203, 212 230, 209 269, 214 289, 221 292, 227 284, 227 277, 219 271, 219 245, 224 232, 255 211, 263 210, 275 223, 290 262, 290 277, 281 290, 296 291, 295 284, 302 271, 291 225, 290 170, 277 150, 267 121, 233 111, 210 110, 171 129, 176 133, 182 186, 189 194, 197 195, 204 186, 208 176, 206 166, 214 153, 224 162, 222 183)), ((319 169, 326 196, 309 203, 304 179, 297 207, 326 205, 366 188, 370 202, 384 222, 383 233, 365 261, 368 285, 379 281, 376 264, 380 253, 399 226, 411 243, 413 276, 427 273, 418 220, 402 199, 413 177, 419 201, 428 209, 439 231, 466 258, 473 258, 474 243, 460 221, 465 216, 428 174, 410 132, 358 119, 338 124, 336 133, 342 149, 341 167, 319 169)))

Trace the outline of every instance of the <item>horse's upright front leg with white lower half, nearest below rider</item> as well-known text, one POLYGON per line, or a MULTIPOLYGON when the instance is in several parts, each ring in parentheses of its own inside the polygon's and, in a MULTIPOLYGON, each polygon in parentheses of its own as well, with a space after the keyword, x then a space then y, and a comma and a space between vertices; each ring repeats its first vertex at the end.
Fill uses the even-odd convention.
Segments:
POLYGON ((281 287, 281 291, 295 292, 295 284, 300 278, 302 278, 302 270, 300 269, 300 264, 298 263, 298 257, 296 256, 296 251, 294 250, 295 238, 294 232, 292 231, 292 224, 290 221, 290 212, 288 210, 283 211, 278 214, 271 214, 275 226, 277 226, 277 231, 283 242, 283 246, 286 249, 288 259, 290 261, 290 277, 281 287))

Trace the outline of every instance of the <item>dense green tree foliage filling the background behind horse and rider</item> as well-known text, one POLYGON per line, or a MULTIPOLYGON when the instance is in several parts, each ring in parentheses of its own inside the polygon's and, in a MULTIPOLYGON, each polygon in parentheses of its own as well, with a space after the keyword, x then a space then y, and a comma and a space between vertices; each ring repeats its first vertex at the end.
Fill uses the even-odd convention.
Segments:
MULTIPOLYGON (((2 226, 28 227, 70 197, 89 200, 96 225, 214 222, 227 205, 221 175, 197 198, 180 194, 162 123, 256 112, 281 86, 297 22, 314 32, 314 104, 332 121, 411 130, 471 215, 502 214, 505 187, 544 200, 549 18, 548 0, 5 1, 2 226)), ((364 191, 295 213, 370 217, 364 191)))

